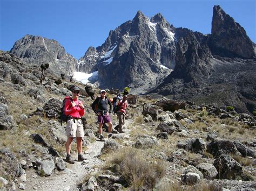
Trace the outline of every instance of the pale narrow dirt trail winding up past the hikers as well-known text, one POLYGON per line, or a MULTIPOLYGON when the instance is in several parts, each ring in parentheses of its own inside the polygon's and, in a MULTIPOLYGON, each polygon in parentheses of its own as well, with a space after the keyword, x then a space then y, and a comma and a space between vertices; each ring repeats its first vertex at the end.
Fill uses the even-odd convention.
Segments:
MULTIPOLYGON (((113 134, 114 137, 129 136, 130 129, 127 128, 131 123, 131 119, 126 120, 124 125, 124 133, 113 134)), ((105 138, 107 141, 107 138, 105 138)), ((66 163, 66 169, 63 172, 54 172, 48 177, 37 175, 34 169, 26 172, 27 181, 24 183, 25 190, 75 190, 84 176, 96 165, 103 165, 103 161, 97 156, 101 154, 104 142, 95 141, 87 146, 83 162, 75 161, 75 164, 66 163)), ((77 159, 77 154, 72 155, 73 159, 77 159)))

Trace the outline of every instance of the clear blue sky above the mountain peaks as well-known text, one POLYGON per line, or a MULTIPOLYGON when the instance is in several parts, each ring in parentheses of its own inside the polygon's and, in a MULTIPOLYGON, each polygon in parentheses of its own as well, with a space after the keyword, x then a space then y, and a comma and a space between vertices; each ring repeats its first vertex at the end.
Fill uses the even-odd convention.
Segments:
POLYGON ((211 33, 213 6, 244 27, 256 43, 255 0, 0 0, 0 49, 10 51, 26 34, 57 40, 79 59, 89 46, 104 43, 110 30, 132 20, 140 10, 160 12, 174 27, 211 33))

